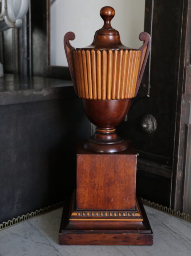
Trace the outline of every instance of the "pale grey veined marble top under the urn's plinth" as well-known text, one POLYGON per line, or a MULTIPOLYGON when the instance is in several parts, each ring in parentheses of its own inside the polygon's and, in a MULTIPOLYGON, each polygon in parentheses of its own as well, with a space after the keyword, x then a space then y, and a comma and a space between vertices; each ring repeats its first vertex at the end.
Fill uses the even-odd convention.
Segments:
POLYGON ((152 246, 60 246, 60 208, 0 231, 0 256, 191 256, 191 223, 145 209, 152 246))

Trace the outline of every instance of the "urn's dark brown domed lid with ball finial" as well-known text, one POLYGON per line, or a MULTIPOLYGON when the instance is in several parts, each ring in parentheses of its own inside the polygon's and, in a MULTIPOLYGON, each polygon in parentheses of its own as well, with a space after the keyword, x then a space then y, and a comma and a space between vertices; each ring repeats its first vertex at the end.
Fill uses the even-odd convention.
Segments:
POLYGON ((105 6, 101 8, 100 16, 104 21, 103 27, 96 31, 93 43, 83 49, 129 49, 122 45, 118 30, 111 26, 115 10, 110 6, 105 6))

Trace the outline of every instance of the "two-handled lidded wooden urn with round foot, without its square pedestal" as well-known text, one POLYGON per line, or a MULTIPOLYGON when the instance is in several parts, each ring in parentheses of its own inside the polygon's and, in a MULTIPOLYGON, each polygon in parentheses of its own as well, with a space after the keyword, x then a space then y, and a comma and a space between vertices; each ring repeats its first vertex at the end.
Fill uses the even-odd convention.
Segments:
POLYGON ((139 49, 122 45, 117 30, 111 27, 115 10, 103 7, 100 16, 103 28, 96 31, 93 43, 73 48, 73 32, 64 36, 64 48, 73 86, 89 120, 97 126, 96 133, 83 147, 89 151, 115 153, 128 148, 127 141, 115 132, 127 114, 131 99, 137 95, 149 55, 151 38, 139 35, 144 44, 139 49))

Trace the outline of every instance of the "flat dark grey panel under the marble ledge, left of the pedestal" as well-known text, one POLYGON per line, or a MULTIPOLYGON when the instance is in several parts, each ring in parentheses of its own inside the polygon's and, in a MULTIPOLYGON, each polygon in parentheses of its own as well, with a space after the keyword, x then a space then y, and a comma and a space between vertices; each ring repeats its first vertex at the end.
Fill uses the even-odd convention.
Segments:
POLYGON ((2 223, 64 200, 76 186, 76 140, 90 129, 76 96, 0 106, 0 117, 2 223))

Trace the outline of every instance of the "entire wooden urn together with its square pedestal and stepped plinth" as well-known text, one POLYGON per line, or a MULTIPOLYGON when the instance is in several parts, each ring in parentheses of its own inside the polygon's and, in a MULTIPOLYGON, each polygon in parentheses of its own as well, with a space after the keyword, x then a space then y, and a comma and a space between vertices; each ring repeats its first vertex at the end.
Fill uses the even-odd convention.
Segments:
POLYGON ((65 245, 151 245, 153 234, 142 203, 136 199, 137 154, 115 132, 137 95, 149 55, 146 32, 139 49, 122 45, 111 27, 112 7, 100 10, 103 28, 93 43, 73 48, 73 32, 64 48, 76 94, 96 133, 77 148, 76 191, 64 206, 59 243, 65 245))

